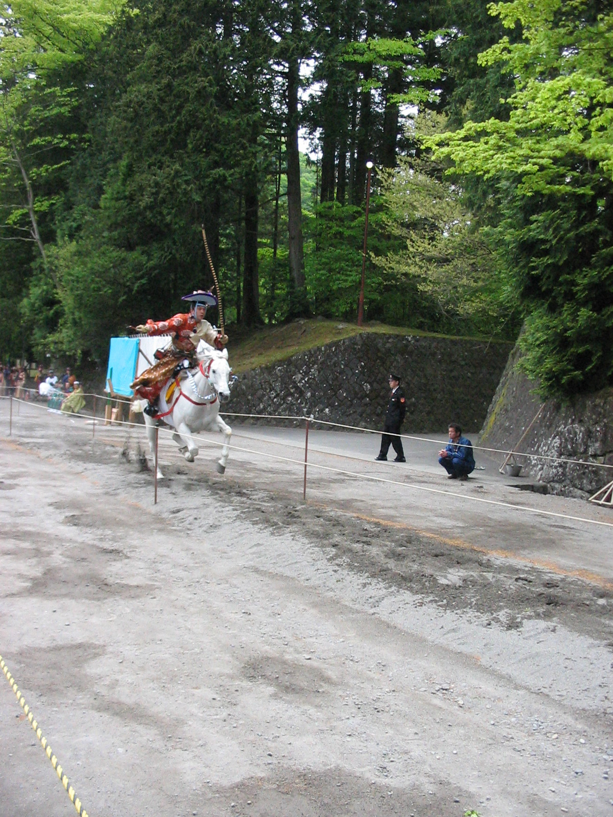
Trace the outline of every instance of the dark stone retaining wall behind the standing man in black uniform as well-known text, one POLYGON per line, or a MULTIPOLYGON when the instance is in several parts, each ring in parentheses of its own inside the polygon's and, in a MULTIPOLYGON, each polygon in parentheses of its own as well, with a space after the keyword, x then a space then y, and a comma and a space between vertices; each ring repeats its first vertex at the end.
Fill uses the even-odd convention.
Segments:
POLYGON ((501 342, 363 333, 240 374, 225 408, 290 417, 312 413, 378 429, 394 371, 407 399, 405 433, 446 431, 452 420, 476 431, 511 349, 501 342))

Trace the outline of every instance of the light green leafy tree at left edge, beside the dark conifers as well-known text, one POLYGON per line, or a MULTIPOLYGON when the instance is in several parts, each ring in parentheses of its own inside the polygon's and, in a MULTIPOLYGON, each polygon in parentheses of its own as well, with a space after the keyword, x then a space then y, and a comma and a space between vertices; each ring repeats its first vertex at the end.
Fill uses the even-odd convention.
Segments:
POLYGON ((74 121, 75 83, 119 6, 107 0, 0 6, 0 243, 26 242, 13 254, 10 314, 14 321, 25 296, 23 314, 34 328, 18 339, 2 327, 2 347, 12 354, 28 354, 36 337, 56 325, 58 281, 45 243, 62 201, 62 174, 83 136, 74 121))

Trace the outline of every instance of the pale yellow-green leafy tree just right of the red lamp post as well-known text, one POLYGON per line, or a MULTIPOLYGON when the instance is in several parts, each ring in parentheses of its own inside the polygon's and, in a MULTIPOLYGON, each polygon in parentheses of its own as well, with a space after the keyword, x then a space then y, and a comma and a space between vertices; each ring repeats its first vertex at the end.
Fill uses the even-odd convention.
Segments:
MULTIPOLYGON (((423 133, 443 124, 441 115, 422 114, 415 127, 423 133)), ((512 331, 511 293, 463 188, 426 155, 401 158, 381 180, 386 224, 403 246, 374 262, 399 287, 413 281, 424 306, 436 305, 436 326, 426 315, 420 323, 459 334, 512 331)))

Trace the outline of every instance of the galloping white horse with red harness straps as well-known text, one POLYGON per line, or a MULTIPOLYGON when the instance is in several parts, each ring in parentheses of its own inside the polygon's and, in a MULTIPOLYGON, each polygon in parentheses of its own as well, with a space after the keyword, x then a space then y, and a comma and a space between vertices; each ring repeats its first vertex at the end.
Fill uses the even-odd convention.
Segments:
MULTIPOLYGON (((230 397, 230 365, 228 351, 213 349, 208 343, 200 341, 196 350, 197 368, 185 371, 178 382, 169 378, 159 395, 159 409, 156 417, 145 414, 149 449, 154 458, 158 479, 163 477, 158 462, 155 461, 155 426, 156 421, 163 420, 177 431, 172 435, 181 452, 185 451, 187 462, 194 462, 198 456, 198 446, 192 434, 195 431, 221 431, 224 435, 221 458, 217 462, 217 471, 226 471, 232 429, 219 416, 219 405, 230 397)), ((146 400, 135 400, 132 411, 142 411, 146 400)))

